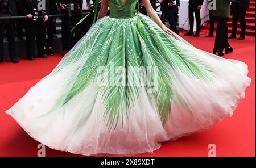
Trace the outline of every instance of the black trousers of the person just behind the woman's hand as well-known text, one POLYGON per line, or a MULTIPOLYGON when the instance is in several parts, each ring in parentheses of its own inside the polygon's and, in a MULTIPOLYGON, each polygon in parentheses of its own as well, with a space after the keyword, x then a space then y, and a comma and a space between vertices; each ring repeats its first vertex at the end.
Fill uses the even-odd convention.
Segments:
POLYGON ((179 9, 177 5, 174 5, 173 7, 167 7, 165 10, 165 14, 169 20, 170 23, 170 29, 177 33, 177 22, 178 22, 178 14, 179 14, 179 9))

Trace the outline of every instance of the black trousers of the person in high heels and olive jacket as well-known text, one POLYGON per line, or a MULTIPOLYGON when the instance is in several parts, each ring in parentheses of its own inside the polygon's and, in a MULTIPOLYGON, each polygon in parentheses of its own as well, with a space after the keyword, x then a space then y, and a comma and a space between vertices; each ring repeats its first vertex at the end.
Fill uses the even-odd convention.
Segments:
POLYGON ((216 17, 217 20, 217 30, 216 30, 216 39, 213 48, 213 52, 223 51, 224 48, 228 48, 228 18, 216 17))

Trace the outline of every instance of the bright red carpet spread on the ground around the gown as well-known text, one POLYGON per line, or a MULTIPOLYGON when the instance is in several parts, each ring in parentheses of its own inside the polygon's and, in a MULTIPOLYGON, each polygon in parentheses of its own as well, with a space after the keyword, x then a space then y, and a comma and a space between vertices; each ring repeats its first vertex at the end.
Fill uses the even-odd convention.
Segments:
MULTIPOLYGON (((183 35, 181 35, 183 36, 183 35)), ((214 38, 203 36, 184 37, 195 47, 211 52, 214 38)), ((232 58, 246 62, 249 77, 253 79, 246 90, 246 98, 230 119, 215 125, 212 129, 177 141, 164 142, 162 148, 153 154, 144 153, 137 156, 208 156, 208 145, 216 145, 217 156, 255 156, 255 37, 246 40, 230 40, 234 48, 232 58)), ((61 53, 47 59, 28 61, 20 59, 19 64, 6 62, 0 64, 0 156, 37 156, 39 142, 33 140, 7 114, 31 86, 46 76, 61 60, 61 53)), ((59 152, 46 148, 46 156, 77 156, 68 152, 59 152)))

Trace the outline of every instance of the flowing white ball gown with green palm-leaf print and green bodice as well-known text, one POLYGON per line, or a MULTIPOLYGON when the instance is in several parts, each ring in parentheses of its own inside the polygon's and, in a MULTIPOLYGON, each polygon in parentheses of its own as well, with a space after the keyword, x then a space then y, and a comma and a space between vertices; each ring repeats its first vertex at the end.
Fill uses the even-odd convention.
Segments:
POLYGON ((6 111, 32 138, 88 156, 135 154, 232 116, 247 65, 176 40, 136 3, 109 0, 110 16, 6 111))

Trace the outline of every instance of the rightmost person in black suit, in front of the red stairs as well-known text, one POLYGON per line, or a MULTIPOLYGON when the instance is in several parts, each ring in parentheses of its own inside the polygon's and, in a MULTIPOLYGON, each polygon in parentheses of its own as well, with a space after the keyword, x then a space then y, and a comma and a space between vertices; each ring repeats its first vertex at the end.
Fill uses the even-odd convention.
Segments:
POLYGON ((237 34, 237 22, 239 18, 241 33, 240 37, 237 40, 245 39, 245 30, 246 30, 246 22, 245 22, 245 14, 246 9, 249 7, 249 0, 233 0, 231 5, 231 10, 233 14, 232 18, 232 33, 229 36, 229 39, 236 39, 237 34))

